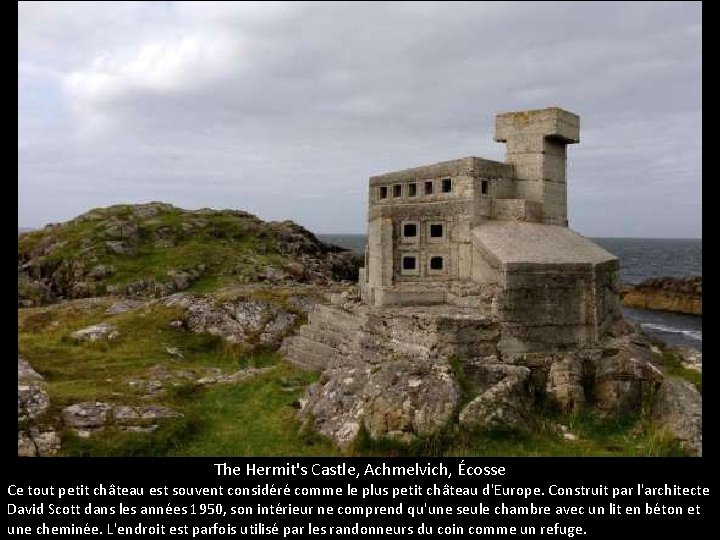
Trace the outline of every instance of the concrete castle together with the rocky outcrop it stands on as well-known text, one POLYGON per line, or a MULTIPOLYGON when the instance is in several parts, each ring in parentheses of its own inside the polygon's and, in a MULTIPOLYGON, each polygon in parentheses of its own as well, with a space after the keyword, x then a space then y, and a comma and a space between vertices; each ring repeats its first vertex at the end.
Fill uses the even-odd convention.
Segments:
MULTIPOLYGON (((495 140, 504 163, 467 157, 370 178, 359 287, 315 305, 283 342, 291 362, 322 370, 299 416, 337 445, 528 428, 548 403, 634 414, 679 395, 622 319, 617 259, 568 228, 577 115, 500 114, 495 140)), ((699 452, 691 387, 690 420, 666 423, 699 452)), ((677 410, 663 407, 661 418, 677 410)))

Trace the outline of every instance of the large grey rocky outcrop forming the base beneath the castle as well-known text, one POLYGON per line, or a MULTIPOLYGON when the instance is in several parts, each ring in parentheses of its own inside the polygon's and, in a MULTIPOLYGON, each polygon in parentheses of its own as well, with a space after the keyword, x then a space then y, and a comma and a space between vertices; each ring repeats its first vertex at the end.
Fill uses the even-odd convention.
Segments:
MULTIPOLYGON (((323 370, 299 401, 299 415, 340 447, 361 432, 408 443, 456 424, 525 428, 548 403, 610 416, 647 413, 658 399, 676 402, 659 354, 632 325, 615 325, 592 348, 503 354, 492 316, 453 306, 372 308, 354 291, 315 306, 308 322, 283 341, 281 352, 300 367, 323 370), (658 397, 663 392, 670 392, 667 398, 658 397)), ((658 418, 680 425, 667 412, 672 407, 657 407, 665 411, 658 418)))

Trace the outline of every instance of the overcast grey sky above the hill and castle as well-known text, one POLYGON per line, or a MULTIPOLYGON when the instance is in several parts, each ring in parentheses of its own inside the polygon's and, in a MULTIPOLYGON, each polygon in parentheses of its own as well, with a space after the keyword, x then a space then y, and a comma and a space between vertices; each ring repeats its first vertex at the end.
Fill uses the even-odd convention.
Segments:
POLYGON ((701 237, 701 6, 20 2, 18 224, 161 200, 365 232, 373 174, 581 117, 570 225, 701 237))

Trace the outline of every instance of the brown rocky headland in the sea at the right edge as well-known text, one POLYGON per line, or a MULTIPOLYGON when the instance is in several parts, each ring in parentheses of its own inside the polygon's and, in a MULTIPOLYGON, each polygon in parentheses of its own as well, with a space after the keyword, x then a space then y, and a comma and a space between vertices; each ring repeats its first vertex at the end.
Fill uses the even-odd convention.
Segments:
POLYGON ((650 278, 620 294, 625 307, 702 316, 702 276, 650 278))

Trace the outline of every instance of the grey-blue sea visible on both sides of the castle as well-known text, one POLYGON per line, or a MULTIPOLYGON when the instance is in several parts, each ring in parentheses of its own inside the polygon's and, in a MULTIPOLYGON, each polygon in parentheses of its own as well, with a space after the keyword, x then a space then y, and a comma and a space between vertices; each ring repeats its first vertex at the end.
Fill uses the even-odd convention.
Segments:
MULTIPOLYGON (((363 253, 364 234, 318 234, 320 240, 363 253)), ((592 238, 620 259, 620 281, 635 285, 650 277, 702 276, 702 239, 592 238)), ((702 317, 625 308, 625 316, 670 345, 702 351, 702 317)))

